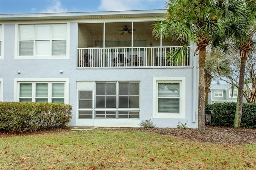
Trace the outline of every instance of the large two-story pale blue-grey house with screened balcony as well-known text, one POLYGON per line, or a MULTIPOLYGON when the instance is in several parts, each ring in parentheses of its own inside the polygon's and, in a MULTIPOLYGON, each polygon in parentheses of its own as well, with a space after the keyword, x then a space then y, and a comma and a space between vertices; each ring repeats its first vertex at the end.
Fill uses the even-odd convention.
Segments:
POLYGON ((165 10, 0 15, 2 101, 73 106, 70 126, 197 127, 193 49, 152 37, 165 10))

